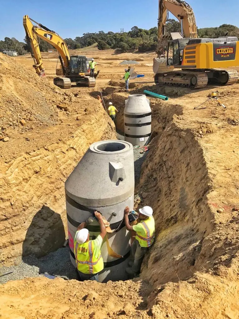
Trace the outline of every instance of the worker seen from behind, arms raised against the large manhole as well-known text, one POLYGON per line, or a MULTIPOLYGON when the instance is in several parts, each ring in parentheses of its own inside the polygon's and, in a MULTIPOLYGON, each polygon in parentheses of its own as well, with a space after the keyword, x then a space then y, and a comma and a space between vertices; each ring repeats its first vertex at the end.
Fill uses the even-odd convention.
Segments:
POLYGON ((101 214, 98 211, 94 214, 100 225, 100 234, 95 240, 89 240, 89 231, 85 227, 94 220, 92 216, 78 226, 74 239, 76 274, 79 281, 98 281, 98 273, 104 268, 100 249, 106 235, 106 228, 101 214))

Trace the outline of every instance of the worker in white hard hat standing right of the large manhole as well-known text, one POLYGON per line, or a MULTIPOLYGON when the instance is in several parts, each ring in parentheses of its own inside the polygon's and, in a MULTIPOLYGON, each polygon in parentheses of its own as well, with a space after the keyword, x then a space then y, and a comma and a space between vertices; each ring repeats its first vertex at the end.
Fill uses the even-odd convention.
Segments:
POLYGON ((126 229, 136 232, 136 236, 131 245, 132 258, 129 261, 129 266, 131 267, 127 267, 126 272, 129 275, 137 276, 140 273, 143 257, 154 242, 155 225, 152 216, 153 210, 149 206, 141 208, 139 210, 140 222, 134 226, 130 226, 129 224, 128 213, 129 207, 126 206, 124 210, 126 229))

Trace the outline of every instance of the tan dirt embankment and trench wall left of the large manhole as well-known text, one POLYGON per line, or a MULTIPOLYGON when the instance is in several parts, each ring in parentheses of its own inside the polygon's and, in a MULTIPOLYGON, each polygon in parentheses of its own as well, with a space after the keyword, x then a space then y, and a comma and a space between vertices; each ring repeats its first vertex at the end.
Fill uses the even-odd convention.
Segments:
POLYGON ((88 146, 115 138, 115 131, 87 88, 55 89, 2 54, 0 66, 0 120, 8 137, 0 141, 0 262, 12 263, 61 247, 68 236, 64 182, 88 146))

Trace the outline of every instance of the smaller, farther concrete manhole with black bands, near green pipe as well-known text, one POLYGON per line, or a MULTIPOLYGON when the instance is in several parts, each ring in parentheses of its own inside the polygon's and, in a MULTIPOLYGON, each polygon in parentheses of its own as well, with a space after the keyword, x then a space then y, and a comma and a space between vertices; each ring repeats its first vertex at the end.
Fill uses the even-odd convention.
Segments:
POLYGON ((132 94, 125 101, 125 141, 144 146, 151 135, 151 108, 143 94, 132 94))

